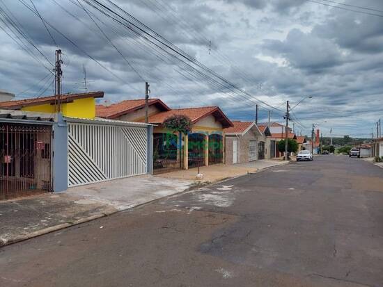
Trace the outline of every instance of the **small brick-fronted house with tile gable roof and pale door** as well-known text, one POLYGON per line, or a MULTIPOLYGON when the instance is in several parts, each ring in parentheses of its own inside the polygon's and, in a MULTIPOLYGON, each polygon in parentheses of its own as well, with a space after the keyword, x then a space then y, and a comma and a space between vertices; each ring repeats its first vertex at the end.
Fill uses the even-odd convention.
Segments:
POLYGON ((259 128, 255 122, 233 121, 233 126, 225 129, 226 163, 249 163, 266 158, 267 136, 271 136, 267 126, 259 128))

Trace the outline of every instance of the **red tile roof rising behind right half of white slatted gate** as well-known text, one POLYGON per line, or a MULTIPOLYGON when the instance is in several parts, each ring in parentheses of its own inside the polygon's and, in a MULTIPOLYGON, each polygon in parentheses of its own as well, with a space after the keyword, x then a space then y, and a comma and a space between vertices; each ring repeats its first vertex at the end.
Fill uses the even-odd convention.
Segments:
MULTIPOLYGON (((160 99, 149 99, 149 106, 156 105, 161 110, 171 110, 163 101, 160 99)), ((145 99, 129 99, 126 101, 120 101, 116 104, 111 104, 110 106, 97 105, 96 106, 96 116, 104 117, 106 119, 115 119, 120 115, 125 115, 134 110, 139 110, 140 108, 145 107, 145 99)))

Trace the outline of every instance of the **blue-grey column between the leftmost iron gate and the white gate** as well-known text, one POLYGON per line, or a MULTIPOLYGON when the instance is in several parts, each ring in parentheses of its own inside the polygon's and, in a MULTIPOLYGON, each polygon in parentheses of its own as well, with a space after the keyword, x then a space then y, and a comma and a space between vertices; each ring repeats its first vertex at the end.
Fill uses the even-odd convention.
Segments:
POLYGON ((56 116, 53 132, 53 191, 60 192, 68 189, 68 124, 61 113, 56 116))

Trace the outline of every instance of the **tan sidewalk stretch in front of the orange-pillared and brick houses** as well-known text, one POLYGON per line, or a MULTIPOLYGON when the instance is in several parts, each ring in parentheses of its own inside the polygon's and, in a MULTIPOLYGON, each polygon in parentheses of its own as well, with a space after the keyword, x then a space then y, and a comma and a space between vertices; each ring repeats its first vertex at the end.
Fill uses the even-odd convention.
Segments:
POLYGON ((197 179, 198 167, 189 168, 189 170, 175 170, 173 172, 166 172, 164 174, 158 174, 157 177, 163 177, 166 179, 183 179, 194 181, 195 183, 212 183, 216 181, 222 181, 231 177, 240 177, 244 174, 258 172, 269 167, 284 165, 286 161, 276 160, 261 160, 252 161, 250 163, 241 163, 235 165, 210 165, 199 168, 199 172, 203 174, 202 179, 197 179))

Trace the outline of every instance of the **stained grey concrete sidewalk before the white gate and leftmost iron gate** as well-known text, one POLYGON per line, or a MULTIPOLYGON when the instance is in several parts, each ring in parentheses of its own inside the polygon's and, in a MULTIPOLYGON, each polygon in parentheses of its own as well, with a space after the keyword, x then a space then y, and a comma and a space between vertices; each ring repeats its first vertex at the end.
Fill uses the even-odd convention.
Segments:
POLYGON ((193 181, 142 176, 0 201, 0 246, 101 218, 194 186, 193 181))

